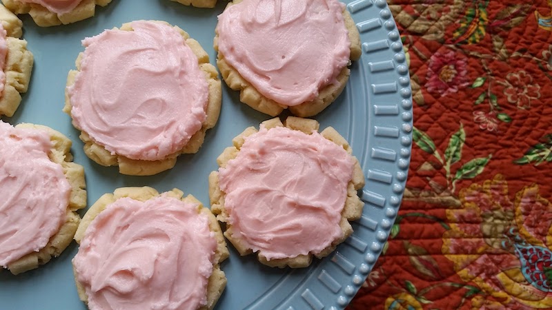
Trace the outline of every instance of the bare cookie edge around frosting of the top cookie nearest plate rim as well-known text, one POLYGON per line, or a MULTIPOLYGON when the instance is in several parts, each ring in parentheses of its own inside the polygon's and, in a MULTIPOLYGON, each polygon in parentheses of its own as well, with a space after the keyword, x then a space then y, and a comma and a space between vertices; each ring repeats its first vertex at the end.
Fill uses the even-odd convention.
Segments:
MULTIPOLYGON (((237 3, 242 2, 242 0, 234 0, 233 2, 228 3, 226 8, 233 6, 237 3)), ((355 22, 353 21, 351 14, 348 13, 346 9, 343 10, 344 23, 347 28, 347 33, 349 41, 351 41, 351 59, 358 60, 362 54, 362 49, 360 45, 359 32, 356 28, 355 22)), ((331 105, 335 99, 342 93, 345 85, 347 84, 348 78, 351 75, 351 70, 346 66, 341 72, 337 75, 336 84, 326 85, 319 90, 317 98, 313 101, 307 101, 295 106, 286 106, 271 99, 266 98, 261 94, 251 83, 249 83, 244 77, 237 72, 232 65, 230 65, 225 57, 219 51, 219 34, 215 29, 215 39, 213 40, 213 47, 217 52, 217 66, 221 72, 221 75, 226 82, 226 85, 232 90, 238 90, 239 100, 246 105, 249 105, 254 110, 268 114, 270 116, 277 116, 281 114, 285 109, 289 109, 291 113, 299 117, 309 117, 315 116, 316 114, 322 112, 328 105, 331 105)))

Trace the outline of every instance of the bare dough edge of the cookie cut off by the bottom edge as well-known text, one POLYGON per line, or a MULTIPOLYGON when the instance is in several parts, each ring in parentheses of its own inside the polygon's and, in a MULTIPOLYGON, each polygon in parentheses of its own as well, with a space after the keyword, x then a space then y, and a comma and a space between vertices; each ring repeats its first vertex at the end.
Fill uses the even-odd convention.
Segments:
MULTIPOLYGON (((209 230, 215 233, 215 239, 217 240, 217 249, 215 250, 213 273, 211 273, 207 284, 207 304, 205 307, 199 308, 201 310, 213 309, 213 307, 215 307, 215 304, 217 303, 217 300, 219 300, 221 293, 224 291, 227 282, 224 271, 220 269, 220 264, 221 262, 226 260, 228 256, 230 256, 230 253, 228 252, 228 247, 226 247, 226 242, 224 240, 224 236, 222 235, 222 229, 219 225, 219 222, 217 221, 213 213, 211 213, 209 209, 204 207, 201 201, 197 200, 197 198, 195 198, 193 195, 189 194, 188 196, 183 197, 184 192, 176 188, 172 189, 170 192, 159 194, 156 189, 147 186, 119 187, 115 189, 113 194, 103 194, 103 196, 101 196, 96 201, 96 203, 94 203, 94 205, 92 205, 92 207, 88 209, 77 229, 75 240, 77 241, 77 243, 80 244, 82 238, 84 238, 84 235, 86 234, 86 229, 88 229, 88 226, 90 225, 90 223, 92 223, 92 220, 94 220, 101 213, 101 211, 105 210, 108 205, 114 203, 115 200, 119 198, 129 197, 144 202, 160 195, 170 196, 172 198, 182 200, 185 203, 197 204, 197 212, 205 214, 207 216, 209 221, 209 230)), ((81 282, 77 280, 78 273, 75 267, 73 267, 73 273, 75 275, 75 284, 77 286, 79 299, 88 304, 88 296, 86 295, 86 291, 81 282)))

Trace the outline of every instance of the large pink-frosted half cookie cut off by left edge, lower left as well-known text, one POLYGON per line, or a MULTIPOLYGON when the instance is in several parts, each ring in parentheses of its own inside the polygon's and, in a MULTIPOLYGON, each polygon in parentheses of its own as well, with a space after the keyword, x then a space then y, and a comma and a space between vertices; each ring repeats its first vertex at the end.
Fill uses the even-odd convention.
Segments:
POLYGON ((71 141, 46 126, 0 121, 0 266, 17 274, 70 244, 86 207, 71 141))

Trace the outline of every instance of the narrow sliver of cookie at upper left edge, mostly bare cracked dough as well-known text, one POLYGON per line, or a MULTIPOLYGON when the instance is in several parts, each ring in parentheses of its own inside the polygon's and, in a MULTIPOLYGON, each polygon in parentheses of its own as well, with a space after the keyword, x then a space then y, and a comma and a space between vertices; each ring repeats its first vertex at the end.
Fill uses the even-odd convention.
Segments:
POLYGON ((19 39, 23 23, 0 4, 0 116, 13 116, 27 92, 33 56, 19 39))

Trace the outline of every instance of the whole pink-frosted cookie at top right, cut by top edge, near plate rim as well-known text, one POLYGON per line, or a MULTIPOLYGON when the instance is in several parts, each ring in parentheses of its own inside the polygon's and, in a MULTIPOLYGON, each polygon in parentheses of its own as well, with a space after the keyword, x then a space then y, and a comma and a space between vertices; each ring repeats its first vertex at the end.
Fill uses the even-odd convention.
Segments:
POLYGON ((344 89, 351 59, 361 54, 355 23, 337 0, 235 0, 215 32, 226 84, 241 91, 243 103, 271 116, 324 110, 344 89))

